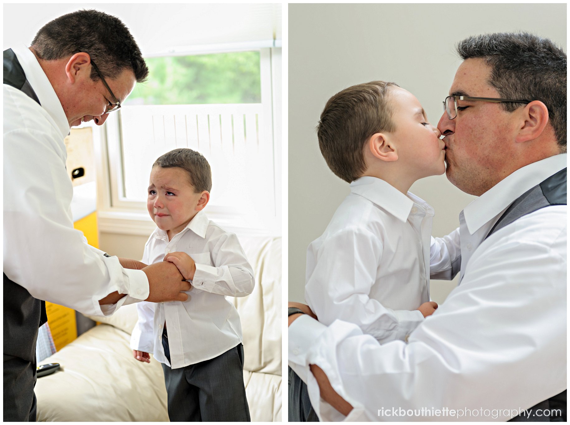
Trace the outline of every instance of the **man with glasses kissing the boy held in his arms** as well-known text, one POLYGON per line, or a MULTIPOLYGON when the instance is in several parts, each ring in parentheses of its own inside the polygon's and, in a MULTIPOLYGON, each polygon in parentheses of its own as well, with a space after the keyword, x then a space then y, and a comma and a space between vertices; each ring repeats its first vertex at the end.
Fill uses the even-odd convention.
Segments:
POLYGON ((458 53, 438 129, 447 178, 479 198, 431 277, 459 286, 407 344, 292 305, 289 361, 321 420, 566 420, 566 54, 527 33, 458 53))

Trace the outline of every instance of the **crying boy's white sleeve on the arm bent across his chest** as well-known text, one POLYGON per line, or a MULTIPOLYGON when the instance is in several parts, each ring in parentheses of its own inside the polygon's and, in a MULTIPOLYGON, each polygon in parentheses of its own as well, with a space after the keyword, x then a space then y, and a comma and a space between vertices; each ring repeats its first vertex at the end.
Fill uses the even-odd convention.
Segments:
POLYGON ((211 263, 209 259, 193 258, 196 273, 192 285, 206 292, 232 297, 245 297, 253 292, 253 269, 237 236, 223 233, 210 242, 213 245, 211 263))

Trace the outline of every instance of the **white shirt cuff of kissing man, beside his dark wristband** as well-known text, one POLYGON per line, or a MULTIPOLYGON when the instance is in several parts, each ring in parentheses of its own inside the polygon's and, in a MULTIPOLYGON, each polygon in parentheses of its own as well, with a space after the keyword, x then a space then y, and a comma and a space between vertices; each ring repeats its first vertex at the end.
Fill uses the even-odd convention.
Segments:
POLYGON ((302 314, 289 326, 289 361, 300 366, 309 365, 309 352, 327 326, 308 314, 302 314))

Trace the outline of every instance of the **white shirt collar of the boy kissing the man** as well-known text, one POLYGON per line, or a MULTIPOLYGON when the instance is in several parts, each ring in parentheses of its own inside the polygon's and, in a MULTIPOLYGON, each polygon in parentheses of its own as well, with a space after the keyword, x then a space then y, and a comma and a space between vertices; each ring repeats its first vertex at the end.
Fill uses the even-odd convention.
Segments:
POLYGON ((408 220, 414 205, 414 201, 401 193, 396 187, 380 178, 369 175, 353 181, 351 183, 351 193, 368 199, 402 222, 408 220))

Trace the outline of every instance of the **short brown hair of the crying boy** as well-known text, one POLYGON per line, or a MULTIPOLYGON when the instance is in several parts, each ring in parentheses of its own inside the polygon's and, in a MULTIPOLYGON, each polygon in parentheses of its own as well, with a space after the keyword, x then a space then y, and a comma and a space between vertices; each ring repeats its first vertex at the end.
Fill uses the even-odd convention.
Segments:
POLYGON ((212 188, 212 173, 210 164, 200 152, 189 148, 178 148, 166 152, 154 161, 153 167, 158 165, 162 168, 179 167, 188 172, 190 184, 194 191, 200 193, 212 188))

